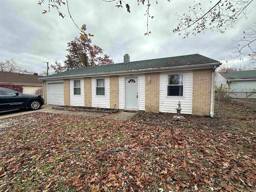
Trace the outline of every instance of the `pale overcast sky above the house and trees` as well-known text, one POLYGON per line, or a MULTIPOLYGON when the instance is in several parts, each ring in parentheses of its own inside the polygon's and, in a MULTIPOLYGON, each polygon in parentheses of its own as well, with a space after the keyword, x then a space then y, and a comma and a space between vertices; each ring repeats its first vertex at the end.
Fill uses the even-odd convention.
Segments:
MULTIPOLYGON (((58 16, 53 8, 50 12, 45 2, 37 5, 36 0, 1 0, 0 6, 0 60, 14 58, 17 65, 29 71, 40 73, 46 67, 45 62, 64 63, 67 55, 67 43, 79 35, 78 29, 70 19, 67 7, 61 6, 64 18, 58 16)), ((149 21, 149 36, 146 32, 146 6, 138 6, 137 0, 126 0, 125 5, 117 8, 116 2, 102 0, 69 0, 70 13, 80 27, 86 24, 87 31, 94 34, 92 42, 102 47, 114 63, 123 62, 124 54, 130 55, 130 61, 164 58, 187 54, 201 54, 226 63, 234 52, 232 39, 255 24, 256 12, 247 14, 248 18, 240 20, 236 28, 228 28, 224 34, 206 30, 205 34, 183 36, 172 30, 178 25, 174 16, 188 11, 193 5, 190 0, 152 0, 149 21), (191 2, 191 4, 189 4, 191 2)), ((203 3, 204 1, 202 1, 203 3)), ((256 7, 253 1, 248 7, 256 7)), ((234 61, 228 62, 233 64, 234 61)), ((236 62, 237 63, 237 62, 236 62)))

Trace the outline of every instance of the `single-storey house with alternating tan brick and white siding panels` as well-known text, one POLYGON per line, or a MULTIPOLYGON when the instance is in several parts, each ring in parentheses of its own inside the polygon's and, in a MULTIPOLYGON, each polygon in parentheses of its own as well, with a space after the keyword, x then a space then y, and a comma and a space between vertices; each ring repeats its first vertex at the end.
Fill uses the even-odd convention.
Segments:
POLYGON ((77 68, 40 78, 46 104, 213 116, 214 71, 199 54, 77 68))

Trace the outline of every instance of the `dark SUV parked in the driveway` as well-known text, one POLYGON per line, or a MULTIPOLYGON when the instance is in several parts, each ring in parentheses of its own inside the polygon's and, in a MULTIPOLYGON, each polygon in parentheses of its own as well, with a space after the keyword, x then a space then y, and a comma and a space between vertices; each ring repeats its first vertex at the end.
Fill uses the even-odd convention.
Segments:
POLYGON ((23 94, 8 88, 0 87, 0 111, 29 108, 38 110, 44 104, 40 95, 23 94))

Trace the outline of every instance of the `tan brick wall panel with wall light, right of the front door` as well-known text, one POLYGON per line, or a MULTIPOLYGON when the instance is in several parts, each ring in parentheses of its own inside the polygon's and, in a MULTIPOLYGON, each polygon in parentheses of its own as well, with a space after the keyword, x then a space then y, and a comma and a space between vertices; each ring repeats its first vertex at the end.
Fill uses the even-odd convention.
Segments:
POLYGON ((160 73, 145 74, 145 111, 147 112, 159 112, 159 75, 160 73))

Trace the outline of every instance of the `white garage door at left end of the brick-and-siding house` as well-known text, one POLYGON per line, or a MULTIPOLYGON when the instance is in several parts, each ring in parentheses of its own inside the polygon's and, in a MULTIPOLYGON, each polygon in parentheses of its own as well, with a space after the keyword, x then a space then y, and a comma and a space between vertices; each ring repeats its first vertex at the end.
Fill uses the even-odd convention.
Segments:
POLYGON ((64 105, 64 88, 63 83, 49 83, 49 104, 64 105))

